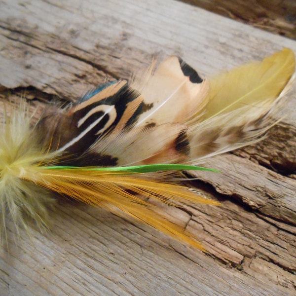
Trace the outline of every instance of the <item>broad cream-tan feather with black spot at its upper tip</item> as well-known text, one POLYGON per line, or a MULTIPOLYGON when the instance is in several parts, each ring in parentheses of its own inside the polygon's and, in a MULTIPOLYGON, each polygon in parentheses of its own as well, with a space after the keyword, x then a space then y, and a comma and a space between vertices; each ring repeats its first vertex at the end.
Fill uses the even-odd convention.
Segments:
POLYGON ((200 81, 192 83, 181 69, 184 65, 189 67, 177 57, 170 57, 154 73, 148 71, 149 77, 134 78, 131 87, 141 92, 145 105, 149 106, 139 116, 136 126, 184 122, 200 114, 207 103, 209 83, 199 76, 200 81))

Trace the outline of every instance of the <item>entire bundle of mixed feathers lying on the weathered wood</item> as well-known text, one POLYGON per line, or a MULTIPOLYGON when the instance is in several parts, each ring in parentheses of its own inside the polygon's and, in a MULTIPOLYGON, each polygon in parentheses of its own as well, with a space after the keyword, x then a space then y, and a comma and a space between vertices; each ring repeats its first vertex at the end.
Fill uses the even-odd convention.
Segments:
MULTIPOLYGON (((178 57, 105 83, 74 105, 32 123, 21 104, 0 123, 1 236, 5 221, 48 227, 53 193, 143 222, 188 245, 202 245, 147 202, 219 203, 175 179, 178 171, 258 141, 275 120, 295 71, 289 49, 202 79, 178 57)), ((215 170, 212 170, 215 171, 215 170)))

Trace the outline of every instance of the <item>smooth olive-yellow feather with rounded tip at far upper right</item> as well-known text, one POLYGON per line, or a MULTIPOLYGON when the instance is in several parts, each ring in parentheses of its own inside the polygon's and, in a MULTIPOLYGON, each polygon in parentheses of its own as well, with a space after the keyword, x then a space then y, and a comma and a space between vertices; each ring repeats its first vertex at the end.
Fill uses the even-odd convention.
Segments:
MULTIPOLYGON (((239 108, 256 108, 261 114, 279 97, 295 72, 295 56, 291 49, 220 74, 210 81, 209 104, 203 120, 239 108)), ((256 109, 255 109, 256 111, 256 109)), ((245 115, 243 109, 236 116, 245 115)), ((258 116, 255 112, 254 117, 258 116)))

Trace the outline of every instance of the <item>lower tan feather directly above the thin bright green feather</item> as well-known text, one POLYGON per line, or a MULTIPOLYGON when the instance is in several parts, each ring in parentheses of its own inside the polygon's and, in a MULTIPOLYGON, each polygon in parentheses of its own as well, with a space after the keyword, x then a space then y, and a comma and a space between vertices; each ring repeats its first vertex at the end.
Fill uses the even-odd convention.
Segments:
POLYGON ((177 123, 147 127, 135 126, 127 131, 107 134, 89 151, 101 155, 112 155, 118 159, 119 166, 179 163, 185 158, 175 149, 175 140, 184 129, 185 125, 177 123), (168 149, 172 149, 170 153, 163 152, 168 149), (162 154, 161 159, 160 154, 162 154))

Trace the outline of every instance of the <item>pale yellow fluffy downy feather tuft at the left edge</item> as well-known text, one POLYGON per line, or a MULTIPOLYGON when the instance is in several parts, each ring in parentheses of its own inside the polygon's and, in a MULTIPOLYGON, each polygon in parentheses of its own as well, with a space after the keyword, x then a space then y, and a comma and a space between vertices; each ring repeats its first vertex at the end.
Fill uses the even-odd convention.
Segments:
POLYGON ((13 109, 10 116, 4 112, 3 119, 0 126, 0 244, 5 237, 6 215, 16 225, 17 232, 20 225, 27 228, 28 218, 36 221, 41 230, 47 228, 47 209, 54 201, 52 193, 41 190, 40 194, 39 186, 20 179, 19 175, 34 174, 32 164, 42 164, 56 156, 40 147, 25 104, 13 109))

